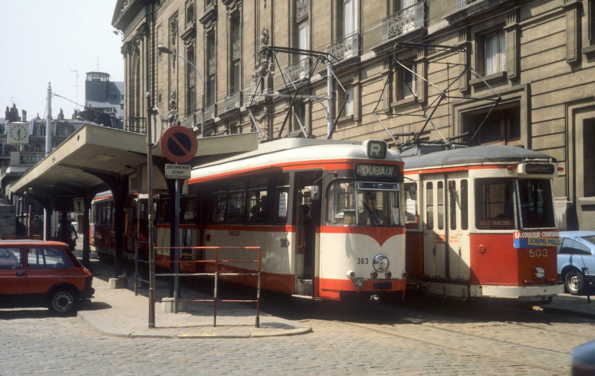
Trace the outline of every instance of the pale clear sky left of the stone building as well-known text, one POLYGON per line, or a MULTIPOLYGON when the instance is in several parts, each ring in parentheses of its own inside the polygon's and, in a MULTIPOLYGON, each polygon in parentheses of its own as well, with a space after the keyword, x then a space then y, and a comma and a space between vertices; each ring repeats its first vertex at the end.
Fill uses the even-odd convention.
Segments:
POLYGON ((0 0, 0 118, 17 105, 27 120, 44 117, 48 83, 52 117, 83 109, 86 73, 124 81, 121 34, 111 26, 117 0, 0 0), (78 78, 77 78, 78 75, 78 78))

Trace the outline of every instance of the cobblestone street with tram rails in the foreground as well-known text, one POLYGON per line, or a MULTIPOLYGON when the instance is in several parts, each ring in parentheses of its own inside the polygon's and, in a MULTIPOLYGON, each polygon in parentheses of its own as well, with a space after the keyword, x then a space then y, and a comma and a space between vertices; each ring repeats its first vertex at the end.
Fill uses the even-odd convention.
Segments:
POLYGON ((588 319, 389 311, 394 318, 300 319, 312 333, 299 336, 176 340, 106 336, 43 309, 0 310, 0 374, 564 375, 572 349, 595 337, 588 319))

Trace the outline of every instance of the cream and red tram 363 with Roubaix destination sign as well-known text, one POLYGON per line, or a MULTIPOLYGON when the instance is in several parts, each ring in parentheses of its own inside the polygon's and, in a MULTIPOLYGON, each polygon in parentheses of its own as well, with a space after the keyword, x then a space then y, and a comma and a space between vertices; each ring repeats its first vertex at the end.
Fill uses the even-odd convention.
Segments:
MULTIPOLYGON (((263 289, 324 300, 403 296, 402 182, 402 159, 382 140, 261 143, 192 170, 189 195, 181 198, 181 237, 187 245, 260 246, 263 289)), ((168 226, 157 227, 157 245, 168 246, 168 226)), ((213 259, 213 251, 202 252, 186 259, 213 259)), ((226 250, 219 252, 225 259, 226 250)), ((246 265, 220 271, 253 268, 246 265)))

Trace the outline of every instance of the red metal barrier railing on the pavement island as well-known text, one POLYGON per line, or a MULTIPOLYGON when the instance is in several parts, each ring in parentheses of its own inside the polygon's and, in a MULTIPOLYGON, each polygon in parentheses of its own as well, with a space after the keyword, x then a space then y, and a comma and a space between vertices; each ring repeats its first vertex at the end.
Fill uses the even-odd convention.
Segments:
MULTIPOLYGON (((140 242, 139 242, 140 243, 140 242)), ((177 303, 183 302, 183 303, 192 303, 192 302, 212 302, 213 304, 213 326, 216 327, 217 326, 217 303, 218 302, 224 302, 224 303, 256 303, 256 318, 255 318, 255 327, 259 328, 260 327, 260 283, 261 283, 261 247, 154 247, 155 250, 159 250, 159 249, 164 249, 164 250, 174 250, 174 252, 181 252, 181 249, 184 250, 189 250, 189 249, 197 249, 197 250, 214 250, 215 251, 215 255, 214 255, 214 259, 202 259, 202 260, 181 260, 179 257, 177 257, 178 255, 176 255, 176 258, 172 261, 172 260, 167 260, 167 261, 159 261, 159 262, 167 262, 167 263, 173 263, 173 264, 214 264, 214 270, 215 272, 211 272, 211 273, 206 273, 206 272, 201 272, 201 273, 180 273, 180 272, 174 272, 174 273, 154 273, 155 277, 174 277, 176 278, 176 282, 175 282, 175 286, 174 287, 174 291, 177 292, 177 278, 180 276, 183 277, 200 277, 200 276, 212 276, 214 277, 214 292, 213 292, 213 299, 178 299, 177 294, 174 293, 174 300, 171 301, 171 303, 174 304, 174 313, 177 313, 177 303), (231 249, 231 250, 258 250, 258 256, 255 259, 224 259, 224 260, 220 260, 219 259, 219 251, 221 249, 231 249), (230 272, 219 272, 218 270, 220 270, 220 265, 221 264, 227 264, 227 263, 234 263, 234 264, 257 264, 256 270, 255 271, 251 271, 251 272, 242 272, 242 273, 230 273, 230 272), (228 276, 228 277, 234 277, 234 276, 242 276, 242 275, 255 275, 256 276, 256 299, 219 299, 218 295, 217 295, 217 288, 218 288, 218 278, 219 277, 223 277, 223 276, 228 276)), ((138 252, 138 250, 136 251, 138 252)), ((142 260, 138 258, 138 253, 136 254, 136 257, 134 258, 136 261, 134 263, 134 293, 138 294, 138 282, 146 282, 146 283, 150 283, 150 281, 148 280, 143 280, 142 278, 139 278, 139 268, 138 268, 138 263, 142 262, 142 263, 146 263, 146 264, 150 264, 149 261, 146 260, 142 260)), ((158 262, 158 261, 155 261, 158 262)), ((153 268, 153 270, 155 270, 155 268, 153 268)), ((154 278, 152 278, 151 275, 149 275, 149 280, 155 280, 154 278)), ((163 303, 162 300, 159 300, 159 303, 163 303)))

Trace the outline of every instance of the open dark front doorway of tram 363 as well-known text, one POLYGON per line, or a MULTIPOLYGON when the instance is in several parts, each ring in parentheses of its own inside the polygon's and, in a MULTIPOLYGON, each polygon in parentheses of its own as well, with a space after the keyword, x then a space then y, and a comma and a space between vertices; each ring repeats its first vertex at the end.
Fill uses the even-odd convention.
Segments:
POLYGON ((320 200, 313 201, 311 187, 320 176, 316 171, 295 174, 293 186, 293 219, 296 228, 295 250, 295 295, 312 297, 314 294, 314 268, 316 252, 316 215, 320 215, 320 200))

